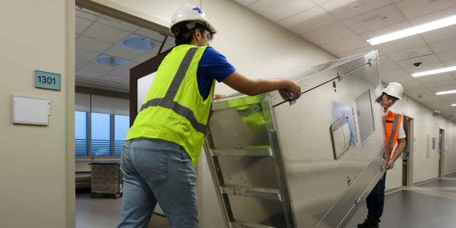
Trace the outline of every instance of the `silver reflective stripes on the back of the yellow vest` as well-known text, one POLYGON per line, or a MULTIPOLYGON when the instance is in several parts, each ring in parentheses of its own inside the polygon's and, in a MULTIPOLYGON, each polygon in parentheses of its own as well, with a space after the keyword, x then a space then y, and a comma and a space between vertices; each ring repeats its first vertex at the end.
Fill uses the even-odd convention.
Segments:
POLYGON ((139 112, 148 107, 157 106, 171 109, 174 112, 176 112, 177 115, 187 119, 196 131, 206 135, 206 125, 201 124, 197 121, 193 111, 174 101, 174 97, 176 97, 177 91, 179 90, 179 87, 182 84, 185 74, 187 73, 188 67, 190 66, 190 63, 192 62, 192 59, 195 56, 197 50, 198 48, 191 48, 187 51, 184 58, 182 59, 182 62, 180 62, 179 68, 177 69, 176 75, 174 75, 173 81, 171 82, 171 85, 169 86, 169 89, 166 92, 165 97, 155 98, 145 102, 141 106, 141 110, 139 110, 139 112))

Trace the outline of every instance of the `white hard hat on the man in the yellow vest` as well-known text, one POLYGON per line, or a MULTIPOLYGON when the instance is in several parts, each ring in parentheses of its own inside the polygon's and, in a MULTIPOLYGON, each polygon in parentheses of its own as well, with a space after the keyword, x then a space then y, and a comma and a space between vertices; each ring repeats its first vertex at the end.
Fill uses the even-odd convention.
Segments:
MULTIPOLYGON (((190 4, 185 4, 181 8, 177 9, 176 12, 174 12, 173 17, 171 18, 169 32, 174 34, 172 31, 173 26, 182 21, 201 21, 202 23, 206 23, 209 29, 215 31, 215 28, 207 20, 206 14, 200 8, 190 4)), ((195 27, 195 23, 187 25, 187 28, 189 29, 193 27, 195 27)))

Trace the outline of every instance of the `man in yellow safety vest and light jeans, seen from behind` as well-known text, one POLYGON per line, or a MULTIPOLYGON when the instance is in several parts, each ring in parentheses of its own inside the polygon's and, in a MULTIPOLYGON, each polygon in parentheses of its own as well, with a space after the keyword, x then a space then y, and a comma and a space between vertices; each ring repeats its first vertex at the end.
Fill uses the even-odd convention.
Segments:
POLYGON ((147 227, 157 202, 171 227, 199 227, 195 166, 217 96, 215 81, 249 96, 278 89, 291 100, 301 95, 292 80, 252 80, 237 71, 209 47, 216 31, 198 7, 179 8, 170 32, 176 47, 158 68, 122 149, 125 176, 119 228, 147 227))

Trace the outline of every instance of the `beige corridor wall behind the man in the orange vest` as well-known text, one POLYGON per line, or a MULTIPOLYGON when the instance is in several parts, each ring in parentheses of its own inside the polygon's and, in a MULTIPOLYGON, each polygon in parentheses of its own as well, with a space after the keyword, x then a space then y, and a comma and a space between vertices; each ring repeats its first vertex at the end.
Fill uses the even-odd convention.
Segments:
MULTIPOLYGON (((456 172, 456 123, 444 116, 434 117, 432 109, 422 103, 406 96, 402 101, 397 102, 391 108, 392 111, 413 119, 413 138, 416 139, 416 150, 413 151, 413 183, 429 180, 438 177, 439 155, 437 153, 437 142, 439 140, 439 128, 445 130, 445 151, 444 175, 456 172), (430 156, 426 157, 426 135, 436 138, 436 149, 432 149, 430 143, 430 156)), ((413 146, 413 145, 411 145, 413 146)), ((402 157, 399 158, 392 170, 388 171, 386 189, 393 189, 402 185, 402 157)))

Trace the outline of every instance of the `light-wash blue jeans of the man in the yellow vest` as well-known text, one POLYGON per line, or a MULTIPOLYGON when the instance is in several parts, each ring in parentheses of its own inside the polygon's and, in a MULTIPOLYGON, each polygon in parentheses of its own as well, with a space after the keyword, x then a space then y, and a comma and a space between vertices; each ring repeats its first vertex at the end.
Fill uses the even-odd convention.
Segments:
POLYGON ((147 227, 157 202, 172 228, 198 228, 196 173, 181 146, 160 139, 127 140, 122 149, 124 195, 118 228, 147 227))

